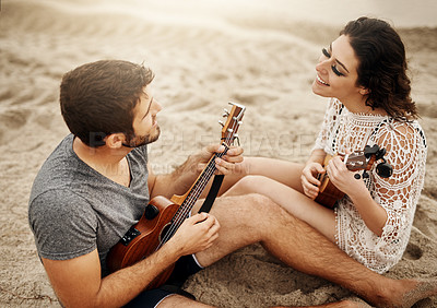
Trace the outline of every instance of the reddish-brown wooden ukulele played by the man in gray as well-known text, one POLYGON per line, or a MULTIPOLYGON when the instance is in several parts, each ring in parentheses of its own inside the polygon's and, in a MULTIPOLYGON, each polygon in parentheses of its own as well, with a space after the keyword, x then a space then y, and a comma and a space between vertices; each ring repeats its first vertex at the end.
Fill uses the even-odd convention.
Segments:
MULTIPOLYGON (((216 170, 215 158, 224 156, 237 138, 236 133, 241 125, 246 107, 235 103, 229 103, 229 105, 232 105, 231 111, 225 109, 223 115, 223 117, 227 117, 226 122, 218 121, 223 126, 222 145, 225 146, 225 151, 212 155, 206 167, 187 193, 184 196, 174 194, 170 200, 157 196, 150 201, 140 221, 110 249, 107 265, 111 272, 132 265, 158 250, 189 217, 192 206, 216 170)), ((146 289, 163 285, 172 274, 174 266, 175 264, 170 265, 156 276, 146 289)))

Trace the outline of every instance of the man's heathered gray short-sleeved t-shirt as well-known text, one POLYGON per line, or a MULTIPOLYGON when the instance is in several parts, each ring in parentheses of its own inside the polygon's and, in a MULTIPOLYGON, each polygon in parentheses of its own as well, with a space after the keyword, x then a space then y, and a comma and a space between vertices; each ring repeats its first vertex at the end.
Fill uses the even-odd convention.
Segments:
POLYGON ((73 151, 68 135, 42 166, 31 192, 28 222, 38 254, 68 260, 97 249, 102 275, 109 249, 135 224, 149 203, 147 147, 127 159, 129 187, 101 175, 73 151))

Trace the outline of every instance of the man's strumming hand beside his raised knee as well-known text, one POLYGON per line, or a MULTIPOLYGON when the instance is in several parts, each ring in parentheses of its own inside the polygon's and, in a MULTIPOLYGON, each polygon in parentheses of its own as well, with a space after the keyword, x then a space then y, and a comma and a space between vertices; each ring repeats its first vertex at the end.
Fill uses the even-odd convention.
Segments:
POLYGON ((218 238, 220 224, 211 214, 199 213, 185 220, 176 234, 168 240, 178 247, 181 256, 187 256, 210 248, 218 238))

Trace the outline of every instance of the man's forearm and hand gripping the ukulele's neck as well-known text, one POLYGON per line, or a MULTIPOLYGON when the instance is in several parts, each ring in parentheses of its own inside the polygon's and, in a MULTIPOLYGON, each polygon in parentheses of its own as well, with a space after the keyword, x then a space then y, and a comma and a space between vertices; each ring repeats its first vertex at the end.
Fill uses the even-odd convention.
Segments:
MULTIPOLYGON (((151 198, 156 196, 172 198, 173 194, 186 193, 204 169, 212 155, 224 150, 224 146, 220 144, 206 146, 198 154, 189 156, 181 166, 167 175, 155 175, 147 166, 149 193, 151 198)), ((243 149, 237 146, 231 147, 222 158, 216 158, 215 166, 218 174, 228 175, 234 171, 238 173, 241 167, 238 163, 241 162, 243 149)))

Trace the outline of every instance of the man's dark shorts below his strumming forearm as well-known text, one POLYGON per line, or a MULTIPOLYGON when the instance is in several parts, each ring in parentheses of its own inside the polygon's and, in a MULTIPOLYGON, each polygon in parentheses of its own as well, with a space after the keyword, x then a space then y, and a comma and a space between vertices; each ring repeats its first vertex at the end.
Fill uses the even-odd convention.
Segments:
POLYGON ((161 286, 160 288, 149 289, 140 293, 139 296, 133 298, 125 307, 153 308, 156 307, 156 305, 158 305, 165 297, 172 294, 179 294, 188 298, 196 299, 194 296, 181 289, 180 287, 190 275, 196 274, 200 270, 202 270, 202 268, 199 265, 192 254, 184 256, 176 262, 175 270, 165 285, 161 286))

